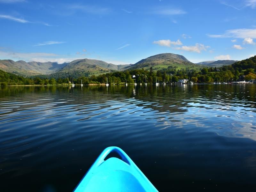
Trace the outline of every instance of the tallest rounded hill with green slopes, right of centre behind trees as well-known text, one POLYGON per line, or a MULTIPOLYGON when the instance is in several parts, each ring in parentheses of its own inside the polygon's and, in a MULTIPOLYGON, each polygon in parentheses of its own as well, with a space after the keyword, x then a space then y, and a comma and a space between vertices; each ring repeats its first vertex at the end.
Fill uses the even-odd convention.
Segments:
POLYGON ((125 67, 124 70, 139 69, 139 68, 144 68, 148 70, 151 67, 154 70, 160 70, 168 67, 177 68, 177 69, 193 68, 193 69, 199 70, 201 68, 204 68, 205 66, 194 64, 189 60, 187 60, 182 55, 173 54, 173 53, 162 53, 162 54, 157 54, 157 55, 148 57, 146 59, 140 60, 139 62, 131 66, 125 67))

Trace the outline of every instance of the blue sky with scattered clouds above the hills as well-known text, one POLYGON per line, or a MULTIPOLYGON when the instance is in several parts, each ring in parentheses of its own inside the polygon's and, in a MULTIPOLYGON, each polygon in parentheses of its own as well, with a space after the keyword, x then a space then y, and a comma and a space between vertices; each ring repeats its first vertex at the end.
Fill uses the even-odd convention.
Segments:
POLYGON ((130 64, 256 55, 256 0, 0 0, 0 59, 130 64))

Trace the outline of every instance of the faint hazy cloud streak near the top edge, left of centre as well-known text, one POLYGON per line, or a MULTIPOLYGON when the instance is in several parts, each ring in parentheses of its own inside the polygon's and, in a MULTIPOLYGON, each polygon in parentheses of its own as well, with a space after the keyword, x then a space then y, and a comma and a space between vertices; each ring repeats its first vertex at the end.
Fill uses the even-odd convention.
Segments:
POLYGON ((81 5, 81 4, 69 4, 67 6, 69 10, 80 10, 92 14, 108 14, 111 12, 111 9, 107 7, 99 7, 96 5, 81 5))

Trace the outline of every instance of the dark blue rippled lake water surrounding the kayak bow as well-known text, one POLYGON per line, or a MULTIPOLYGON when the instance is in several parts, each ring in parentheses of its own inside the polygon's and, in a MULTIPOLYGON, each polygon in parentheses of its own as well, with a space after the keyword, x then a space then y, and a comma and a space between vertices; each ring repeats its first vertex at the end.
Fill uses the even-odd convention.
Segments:
POLYGON ((0 191, 72 191, 109 146, 159 191, 256 188, 256 84, 0 87, 0 191))

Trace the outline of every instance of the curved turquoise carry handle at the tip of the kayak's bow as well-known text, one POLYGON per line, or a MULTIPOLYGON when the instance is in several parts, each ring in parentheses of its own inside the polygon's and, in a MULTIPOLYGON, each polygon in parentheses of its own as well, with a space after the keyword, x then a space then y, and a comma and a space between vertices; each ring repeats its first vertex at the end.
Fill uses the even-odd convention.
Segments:
POLYGON ((132 159, 119 147, 108 147, 108 148, 104 149, 104 151, 102 151, 100 156, 95 161, 94 165, 97 167, 100 166, 104 162, 104 159, 108 156, 108 154, 110 152, 116 152, 118 155, 121 156, 122 161, 131 165, 132 159))

